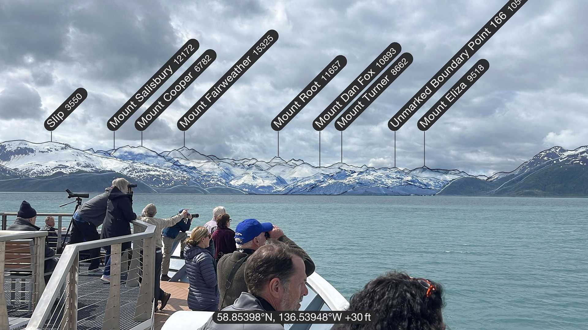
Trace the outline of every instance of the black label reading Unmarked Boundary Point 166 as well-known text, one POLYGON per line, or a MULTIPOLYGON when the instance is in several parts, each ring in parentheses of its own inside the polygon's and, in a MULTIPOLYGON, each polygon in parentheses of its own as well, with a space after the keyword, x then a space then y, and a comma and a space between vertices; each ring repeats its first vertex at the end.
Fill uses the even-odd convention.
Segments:
POLYGON ((510 0, 476 33, 445 65, 435 73, 433 78, 423 86, 402 109, 388 121, 388 128, 396 131, 402 127, 479 50, 502 26, 527 2, 527 0, 510 0))

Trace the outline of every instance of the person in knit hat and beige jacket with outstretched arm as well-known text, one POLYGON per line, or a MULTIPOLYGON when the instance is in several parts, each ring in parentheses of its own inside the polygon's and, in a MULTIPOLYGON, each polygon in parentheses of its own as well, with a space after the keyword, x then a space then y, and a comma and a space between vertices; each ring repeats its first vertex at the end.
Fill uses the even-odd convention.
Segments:
POLYGON ((155 207, 155 204, 149 203, 143 208, 141 216, 137 217, 137 220, 155 225, 155 233, 153 233, 153 236, 155 237, 155 291, 153 291, 153 295, 155 296, 155 304, 159 304, 159 301, 161 300, 161 309, 163 309, 165 305, 168 304, 169 298, 172 297, 172 294, 164 292, 159 285, 161 261, 163 260, 163 255, 161 253, 161 249, 163 248, 161 231, 163 228, 171 227, 172 225, 179 223, 182 218, 188 216, 188 209, 183 209, 182 213, 176 214, 167 219, 155 218, 156 213, 157 208, 155 207))

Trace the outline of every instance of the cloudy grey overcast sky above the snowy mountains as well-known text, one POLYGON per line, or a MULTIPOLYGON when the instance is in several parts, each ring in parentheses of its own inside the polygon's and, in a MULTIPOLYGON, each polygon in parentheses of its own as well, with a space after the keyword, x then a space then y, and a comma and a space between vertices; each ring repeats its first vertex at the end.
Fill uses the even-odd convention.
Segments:
MULTIPOLYGON (((343 161, 394 166, 387 120, 504 4, 497 1, 11 1, 0 4, 0 140, 49 140, 44 120, 75 89, 88 98, 54 131, 57 142, 112 149, 109 119, 188 39, 217 59, 143 133, 156 151, 181 147, 178 119, 266 31, 279 39, 186 132, 186 146, 233 159, 277 153, 270 121, 337 55, 347 66, 280 132, 280 157, 319 161, 312 120, 391 42, 412 65, 343 133, 343 161)), ((426 166, 510 171, 553 146, 588 144, 587 1, 527 2, 396 133, 396 165, 423 165, 420 116, 477 60, 490 69, 427 131, 426 166)), ((178 71, 187 69, 184 65, 178 71)), ((116 147, 140 144, 137 117, 116 147)), ((340 160, 340 133, 321 133, 323 166, 340 160)))

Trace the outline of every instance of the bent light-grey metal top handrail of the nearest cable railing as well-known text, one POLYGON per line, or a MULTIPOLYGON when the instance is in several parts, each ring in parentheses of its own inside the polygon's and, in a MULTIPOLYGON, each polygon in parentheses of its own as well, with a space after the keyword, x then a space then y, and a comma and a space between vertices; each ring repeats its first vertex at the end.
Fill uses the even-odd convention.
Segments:
POLYGON ((138 220, 133 221, 133 224, 138 225, 139 227, 144 227, 145 231, 143 233, 66 245, 64 252, 61 254, 61 257, 59 257, 59 262, 53 271, 53 275, 47 283, 45 291, 41 295, 41 299, 39 299, 39 303, 33 311, 26 329, 37 330, 43 328, 45 321, 51 312, 51 307, 54 305, 55 300, 59 295, 59 289, 64 285, 68 278, 69 270, 72 265, 74 265, 74 261, 78 260, 79 251, 153 237, 153 234, 155 233, 155 225, 138 220))

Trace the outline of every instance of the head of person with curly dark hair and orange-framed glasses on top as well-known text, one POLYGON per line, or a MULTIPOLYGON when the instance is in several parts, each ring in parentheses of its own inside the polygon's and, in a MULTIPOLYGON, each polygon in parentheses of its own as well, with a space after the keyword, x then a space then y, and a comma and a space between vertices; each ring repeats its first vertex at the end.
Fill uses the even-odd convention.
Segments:
POLYGON ((443 287, 404 272, 388 272, 351 297, 348 311, 370 311, 370 324, 338 324, 332 330, 443 330, 443 287))

